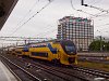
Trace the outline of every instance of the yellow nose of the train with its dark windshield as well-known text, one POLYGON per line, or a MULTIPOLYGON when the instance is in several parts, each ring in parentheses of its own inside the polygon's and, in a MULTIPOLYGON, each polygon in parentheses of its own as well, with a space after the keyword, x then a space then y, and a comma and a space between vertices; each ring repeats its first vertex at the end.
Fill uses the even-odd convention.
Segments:
POLYGON ((61 62, 65 65, 77 64, 77 51, 73 41, 70 40, 61 41, 61 46, 63 49, 61 62))

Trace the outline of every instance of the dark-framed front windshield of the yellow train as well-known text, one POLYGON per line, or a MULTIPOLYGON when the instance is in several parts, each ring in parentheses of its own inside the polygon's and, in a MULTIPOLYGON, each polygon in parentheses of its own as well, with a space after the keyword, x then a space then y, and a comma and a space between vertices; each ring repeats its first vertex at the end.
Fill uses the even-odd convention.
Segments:
POLYGON ((70 55, 76 54, 76 46, 72 41, 62 41, 61 45, 66 54, 70 55))

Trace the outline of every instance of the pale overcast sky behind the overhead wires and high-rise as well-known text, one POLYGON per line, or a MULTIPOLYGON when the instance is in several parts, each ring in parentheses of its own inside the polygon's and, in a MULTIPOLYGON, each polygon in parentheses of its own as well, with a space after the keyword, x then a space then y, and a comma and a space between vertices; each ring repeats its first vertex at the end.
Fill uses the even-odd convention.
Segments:
MULTIPOLYGON (((84 2, 88 5, 109 10, 109 0, 84 0, 84 2)), ((107 12, 100 13, 101 11, 94 8, 83 6, 81 5, 81 0, 72 0, 74 9, 82 10, 93 15, 97 13, 100 13, 98 15, 105 15, 95 17, 75 11, 72 9, 71 0, 53 0, 40 13, 23 25, 32 15, 38 12, 47 3, 49 3, 48 0, 19 0, 13 12, 1 29, 0 36, 56 38, 58 32, 58 19, 69 15, 94 19, 95 36, 109 36, 109 14, 106 14, 107 12)))

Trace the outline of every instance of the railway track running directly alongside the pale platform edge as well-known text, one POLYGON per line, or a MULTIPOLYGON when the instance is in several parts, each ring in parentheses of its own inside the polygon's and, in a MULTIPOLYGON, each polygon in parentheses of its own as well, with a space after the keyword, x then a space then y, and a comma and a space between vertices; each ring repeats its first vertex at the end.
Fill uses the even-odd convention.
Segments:
POLYGON ((11 70, 12 73, 14 72, 14 76, 17 79, 17 81, 41 81, 40 79, 38 79, 24 68, 20 67, 19 65, 8 59, 7 57, 4 56, 1 57, 2 57, 1 62, 11 70))

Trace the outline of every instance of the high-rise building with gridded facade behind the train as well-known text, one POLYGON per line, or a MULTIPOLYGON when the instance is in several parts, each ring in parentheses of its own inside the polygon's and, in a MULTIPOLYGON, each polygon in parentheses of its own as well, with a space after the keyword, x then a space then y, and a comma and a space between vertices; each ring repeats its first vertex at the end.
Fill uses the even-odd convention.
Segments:
POLYGON ((72 40, 78 51, 88 51, 94 39, 94 23, 88 18, 65 16, 59 19, 57 39, 72 40))

